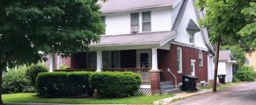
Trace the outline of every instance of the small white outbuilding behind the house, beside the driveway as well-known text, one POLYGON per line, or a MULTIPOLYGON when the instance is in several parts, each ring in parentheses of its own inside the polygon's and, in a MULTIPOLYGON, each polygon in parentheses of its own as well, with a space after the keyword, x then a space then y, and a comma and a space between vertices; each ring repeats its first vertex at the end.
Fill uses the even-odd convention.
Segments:
POLYGON ((237 63, 234 59, 232 52, 230 50, 220 51, 219 55, 219 65, 218 65, 218 75, 226 75, 225 81, 232 82, 233 79, 233 64, 237 63))

